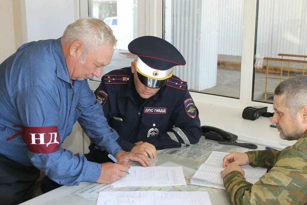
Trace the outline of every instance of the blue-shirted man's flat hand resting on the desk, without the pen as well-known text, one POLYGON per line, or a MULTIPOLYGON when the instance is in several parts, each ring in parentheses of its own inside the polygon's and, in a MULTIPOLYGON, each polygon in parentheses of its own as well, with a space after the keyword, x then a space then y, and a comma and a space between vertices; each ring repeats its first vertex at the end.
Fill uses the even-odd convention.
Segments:
POLYGON ((129 160, 136 161, 142 164, 143 167, 150 166, 150 161, 148 157, 141 155, 141 154, 135 154, 132 152, 119 152, 115 158, 119 162, 119 164, 125 165, 126 167, 130 168, 130 164, 128 163, 129 160))

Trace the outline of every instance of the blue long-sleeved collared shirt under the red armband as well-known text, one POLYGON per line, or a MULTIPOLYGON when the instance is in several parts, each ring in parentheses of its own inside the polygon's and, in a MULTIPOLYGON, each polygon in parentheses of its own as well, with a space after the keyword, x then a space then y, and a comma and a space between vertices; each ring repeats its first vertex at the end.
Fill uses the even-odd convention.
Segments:
POLYGON ((33 164, 57 183, 77 185, 95 182, 100 176, 100 164, 61 146, 77 120, 101 150, 114 156, 122 151, 116 142, 118 134, 109 128, 87 81, 71 83, 60 39, 24 44, 0 64, 0 109, 0 153, 24 165, 33 164), (30 152, 21 134, 7 140, 21 129, 14 125, 57 127, 58 150, 30 152))

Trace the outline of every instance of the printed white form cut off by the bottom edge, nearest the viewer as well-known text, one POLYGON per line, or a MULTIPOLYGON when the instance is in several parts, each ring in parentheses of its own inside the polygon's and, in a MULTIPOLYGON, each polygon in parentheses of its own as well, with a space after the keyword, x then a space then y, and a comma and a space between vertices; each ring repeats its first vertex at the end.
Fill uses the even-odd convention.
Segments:
POLYGON ((208 192, 179 191, 102 191, 97 205, 210 205, 208 192))

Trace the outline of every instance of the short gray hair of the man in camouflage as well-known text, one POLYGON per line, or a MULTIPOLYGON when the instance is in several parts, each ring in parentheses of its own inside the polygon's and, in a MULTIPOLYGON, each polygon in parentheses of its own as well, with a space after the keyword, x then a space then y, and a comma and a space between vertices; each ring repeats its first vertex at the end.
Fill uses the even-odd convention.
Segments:
POLYGON ((296 75, 282 81, 274 90, 274 96, 284 95, 283 105, 289 108, 292 118, 307 105, 307 76, 296 75))

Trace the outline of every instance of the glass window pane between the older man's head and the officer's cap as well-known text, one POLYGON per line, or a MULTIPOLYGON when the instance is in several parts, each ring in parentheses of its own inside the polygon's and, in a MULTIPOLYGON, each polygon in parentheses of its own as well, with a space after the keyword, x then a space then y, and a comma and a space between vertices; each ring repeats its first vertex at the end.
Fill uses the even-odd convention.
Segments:
MULTIPOLYGON (((92 18, 103 20, 113 30, 117 39, 110 65, 102 70, 102 75, 111 70, 130 66, 134 55, 128 51, 128 44, 138 37, 138 0, 92 0, 92 18)), ((101 81, 101 77, 92 77, 91 80, 101 81)))

